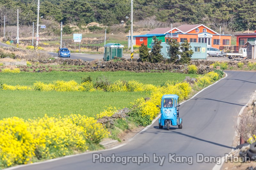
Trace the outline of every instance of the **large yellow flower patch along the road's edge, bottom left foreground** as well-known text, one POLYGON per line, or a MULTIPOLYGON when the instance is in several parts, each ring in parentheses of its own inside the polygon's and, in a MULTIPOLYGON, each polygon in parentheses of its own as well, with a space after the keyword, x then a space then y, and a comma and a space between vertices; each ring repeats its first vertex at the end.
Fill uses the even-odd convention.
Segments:
POLYGON ((32 159, 52 159, 99 144, 109 132, 92 117, 66 115, 0 120, 0 168, 32 163, 32 159))

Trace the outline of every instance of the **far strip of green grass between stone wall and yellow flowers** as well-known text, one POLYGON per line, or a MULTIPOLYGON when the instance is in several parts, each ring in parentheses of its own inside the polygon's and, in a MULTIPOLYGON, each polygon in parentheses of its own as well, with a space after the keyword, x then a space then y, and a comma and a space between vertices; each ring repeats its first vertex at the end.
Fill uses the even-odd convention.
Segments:
POLYGON ((70 81, 75 80, 77 83, 81 83, 81 78, 92 77, 92 81, 96 81, 96 78, 102 78, 103 76, 108 78, 109 81, 114 82, 116 80, 137 80, 144 84, 161 85, 167 80, 183 81, 186 76, 191 78, 197 77, 196 74, 183 74, 183 73, 134 73, 129 71, 95 71, 95 72, 65 72, 65 71, 51 71, 51 72, 20 72, 13 73, 0 73, 0 81, 7 85, 33 85, 36 81, 44 83, 52 83, 55 80, 70 81))

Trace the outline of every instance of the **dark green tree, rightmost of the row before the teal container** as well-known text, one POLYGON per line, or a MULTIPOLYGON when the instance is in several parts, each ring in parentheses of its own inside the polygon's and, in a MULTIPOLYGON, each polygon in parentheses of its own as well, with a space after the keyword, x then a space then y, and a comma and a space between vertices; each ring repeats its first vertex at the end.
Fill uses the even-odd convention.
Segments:
POLYGON ((191 56, 194 52, 191 49, 190 43, 187 40, 180 44, 180 50, 180 63, 190 63, 191 56))

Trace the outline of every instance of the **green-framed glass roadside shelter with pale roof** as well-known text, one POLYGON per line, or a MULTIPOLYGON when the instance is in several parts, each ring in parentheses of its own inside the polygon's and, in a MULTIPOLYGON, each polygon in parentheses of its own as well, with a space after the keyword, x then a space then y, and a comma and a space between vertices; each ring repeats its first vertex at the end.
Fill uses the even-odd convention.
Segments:
POLYGON ((104 61, 109 61, 114 59, 114 57, 123 57, 124 46, 119 43, 108 43, 104 45, 104 61))

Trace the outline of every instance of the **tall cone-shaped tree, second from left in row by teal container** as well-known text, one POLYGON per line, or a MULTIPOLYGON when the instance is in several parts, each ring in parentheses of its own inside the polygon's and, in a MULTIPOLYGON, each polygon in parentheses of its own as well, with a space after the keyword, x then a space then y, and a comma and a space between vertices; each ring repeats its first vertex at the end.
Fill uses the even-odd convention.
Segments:
POLYGON ((153 41, 155 42, 155 45, 149 54, 149 62, 159 63, 164 60, 164 57, 161 54, 161 48, 163 48, 163 46, 161 46, 162 40, 158 40, 156 36, 153 36, 153 41))

